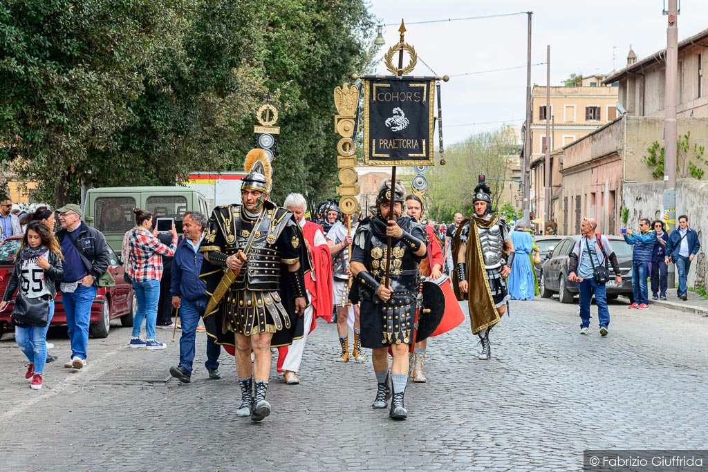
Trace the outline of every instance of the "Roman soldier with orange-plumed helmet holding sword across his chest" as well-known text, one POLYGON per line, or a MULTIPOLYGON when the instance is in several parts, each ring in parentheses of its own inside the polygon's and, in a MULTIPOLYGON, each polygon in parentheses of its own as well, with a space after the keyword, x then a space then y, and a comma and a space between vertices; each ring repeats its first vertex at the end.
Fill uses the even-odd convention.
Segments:
POLYGON ((217 344, 236 347, 241 386, 236 415, 261 421, 270 414, 265 401, 270 347, 302 338, 308 304, 304 274, 312 266, 292 213, 267 200, 270 163, 263 149, 252 149, 244 167, 249 174, 241 180, 242 205, 212 211, 200 246, 205 256, 200 278, 210 297, 207 334, 217 344))

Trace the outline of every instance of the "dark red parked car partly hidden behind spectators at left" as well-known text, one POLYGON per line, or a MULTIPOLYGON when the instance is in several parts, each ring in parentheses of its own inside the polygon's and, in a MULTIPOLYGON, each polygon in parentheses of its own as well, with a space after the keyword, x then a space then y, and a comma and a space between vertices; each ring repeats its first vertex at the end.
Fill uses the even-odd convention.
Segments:
MULTIPOLYGON (((15 255, 20 248, 22 236, 12 236, 0 243, 0 297, 5 293, 8 282, 15 270, 15 255)), ((132 285, 123 280, 123 266, 120 264, 118 255, 113 249, 110 251, 110 265, 108 272, 115 280, 115 287, 98 287, 96 299, 91 305, 91 325, 89 333, 93 338, 105 338, 110 330, 110 320, 120 318, 122 326, 132 326, 133 316, 137 309, 137 299, 133 293, 132 285)), ((13 301, 11 304, 14 302, 13 301)), ((0 338, 3 333, 11 333, 14 327, 10 324, 12 307, 8 306, 0 312, 0 338)), ((67 315, 64 313, 62 304, 62 294, 57 293, 54 306, 54 318, 51 326, 62 326, 67 324, 67 315)))

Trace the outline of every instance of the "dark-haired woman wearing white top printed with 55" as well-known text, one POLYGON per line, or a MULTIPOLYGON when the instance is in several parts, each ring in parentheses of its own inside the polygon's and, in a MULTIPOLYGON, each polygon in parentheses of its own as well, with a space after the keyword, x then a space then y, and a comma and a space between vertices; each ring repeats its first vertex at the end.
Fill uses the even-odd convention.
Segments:
POLYGON ((15 270, 7 284, 0 311, 4 310, 19 289, 28 298, 46 298, 50 312, 46 326, 15 326, 15 340, 29 363, 25 379, 30 387, 42 388, 42 374, 47 360, 47 330, 54 316, 57 296, 55 280, 62 280, 62 251, 52 231, 42 221, 31 221, 15 258, 15 270))

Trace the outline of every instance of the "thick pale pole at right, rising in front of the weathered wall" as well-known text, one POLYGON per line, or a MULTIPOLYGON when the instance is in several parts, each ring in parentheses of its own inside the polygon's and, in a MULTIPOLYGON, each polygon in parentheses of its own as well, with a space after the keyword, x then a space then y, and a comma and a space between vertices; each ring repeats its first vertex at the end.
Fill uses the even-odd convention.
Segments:
POLYGON ((678 0, 668 0, 666 28, 666 122, 664 124, 664 211, 676 219, 676 101, 678 88, 678 0))

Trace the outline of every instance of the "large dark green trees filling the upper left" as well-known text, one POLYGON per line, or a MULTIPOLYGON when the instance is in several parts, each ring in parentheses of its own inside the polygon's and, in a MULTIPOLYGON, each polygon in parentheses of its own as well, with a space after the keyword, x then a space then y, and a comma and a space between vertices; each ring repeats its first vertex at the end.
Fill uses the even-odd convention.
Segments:
POLYGON ((332 90, 373 57, 363 0, 8 0, 0 149, 35 198, 239 171, 278 107, 273 196, 331 194, 332 90))

